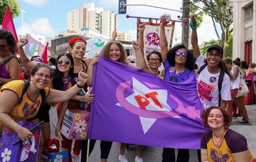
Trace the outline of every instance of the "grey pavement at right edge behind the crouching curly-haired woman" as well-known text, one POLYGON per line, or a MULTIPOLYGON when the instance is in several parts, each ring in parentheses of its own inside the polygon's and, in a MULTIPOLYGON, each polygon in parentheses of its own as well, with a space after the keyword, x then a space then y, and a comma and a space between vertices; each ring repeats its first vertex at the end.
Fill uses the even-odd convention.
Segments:
POLYGON ((233 118, 230 129, 245 136, 252 155, 256 157, 256 111, 254 110, 254 107, 256 107, 256 104, 245 105, 249 116, 249 123, 236 122, 237 119, 242 119, 242 117, 237 117, 237 119, 233 118))

